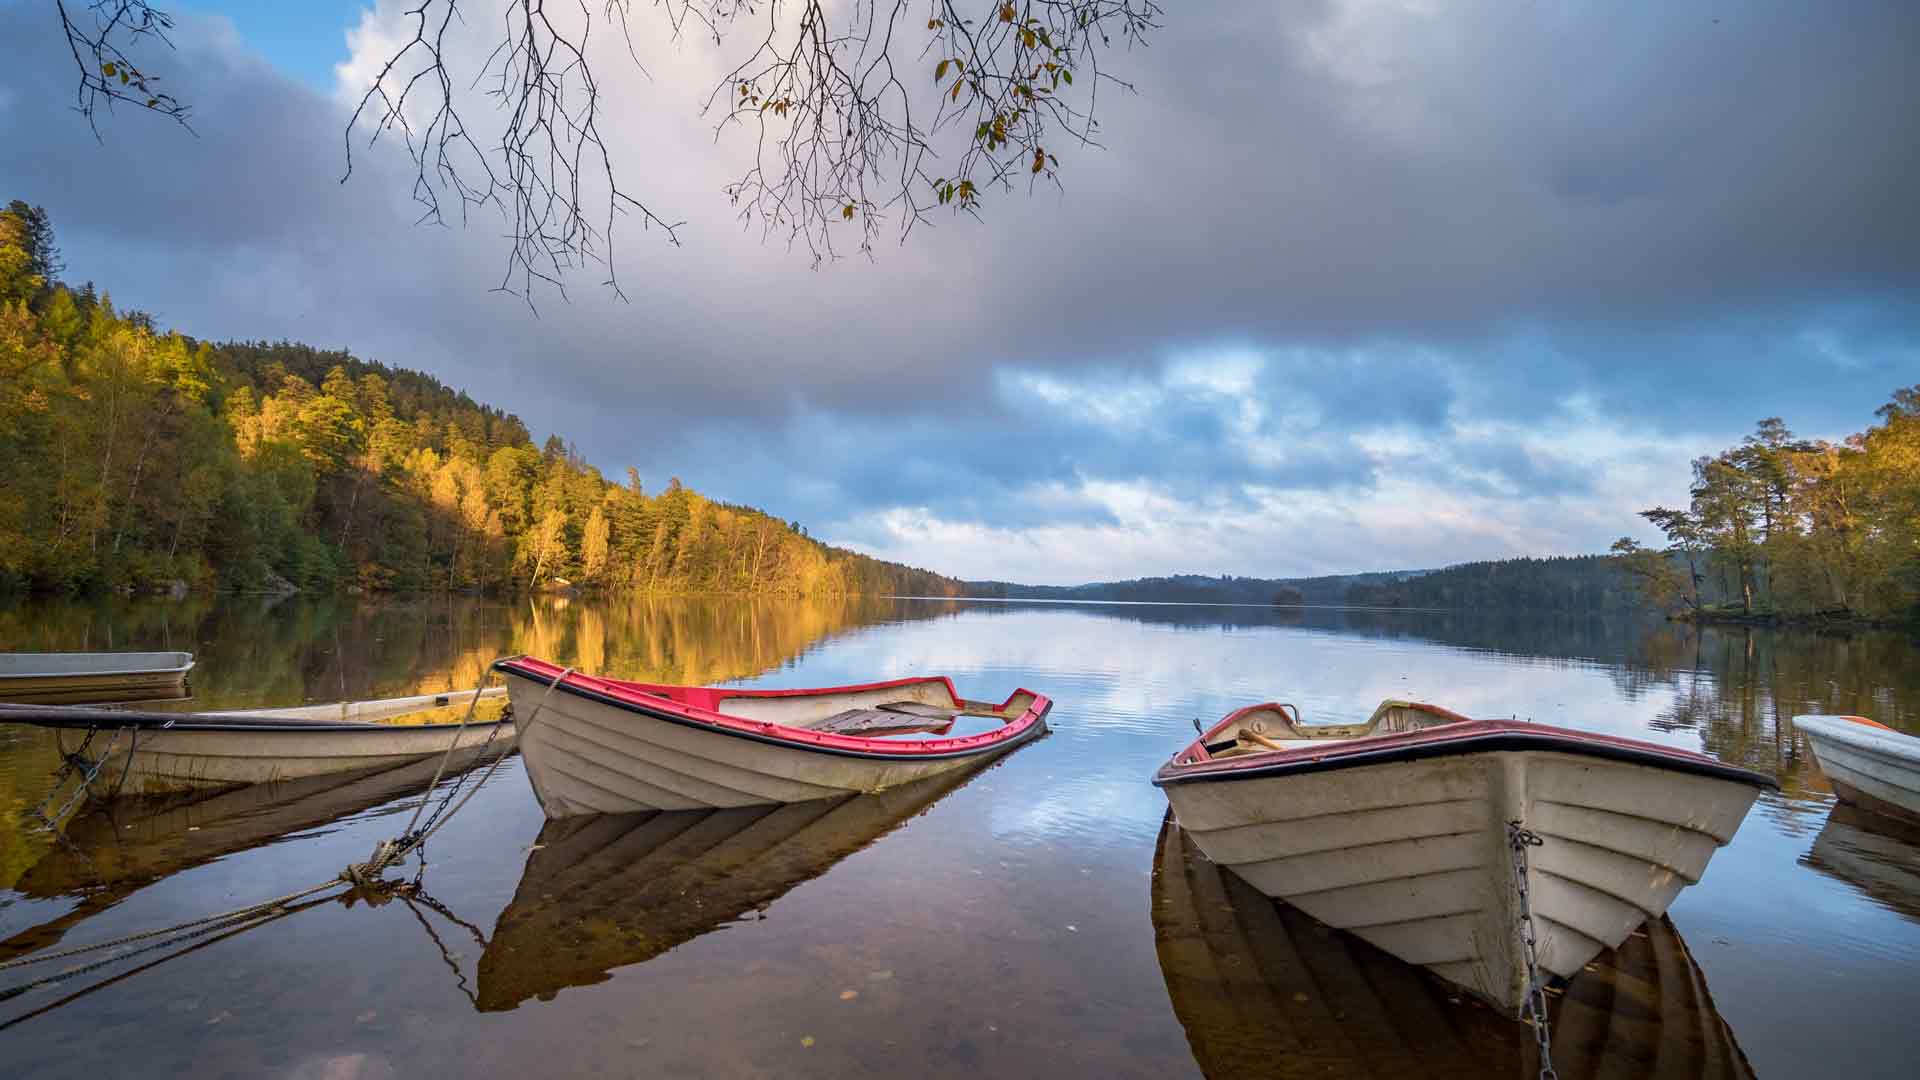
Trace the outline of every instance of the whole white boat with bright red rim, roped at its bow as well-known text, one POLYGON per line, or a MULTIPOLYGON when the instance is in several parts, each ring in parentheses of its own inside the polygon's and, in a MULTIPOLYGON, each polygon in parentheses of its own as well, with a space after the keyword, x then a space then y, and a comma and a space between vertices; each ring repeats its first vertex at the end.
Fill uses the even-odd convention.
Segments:
POLYGON ((883 792, 981 765, 1046 732, 1052 701, 998 705, 950 678, 732 690, 597 678, 534 657, 493 665, 549 819, 720 809, 883 792))

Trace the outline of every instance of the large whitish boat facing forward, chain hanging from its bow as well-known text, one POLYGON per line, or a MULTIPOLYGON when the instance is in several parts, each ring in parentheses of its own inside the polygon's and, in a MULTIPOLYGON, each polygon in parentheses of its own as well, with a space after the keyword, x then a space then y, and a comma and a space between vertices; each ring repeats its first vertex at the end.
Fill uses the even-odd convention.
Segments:
POLYGON ((1252 705, 1154 784, 1208 859, 1511 1013, 1536 984, 1523 913, 1538 982, 1574 976, 1697 882, 1774 786, 1686 749, 1413 701, 1365 724, 1252 705))

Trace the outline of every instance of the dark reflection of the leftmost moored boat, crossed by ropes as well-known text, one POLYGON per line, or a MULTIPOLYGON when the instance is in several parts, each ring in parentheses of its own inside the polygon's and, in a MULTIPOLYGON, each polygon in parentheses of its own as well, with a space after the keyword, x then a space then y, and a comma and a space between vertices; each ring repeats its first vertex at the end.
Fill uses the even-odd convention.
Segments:
MULTIPOLYGON (((492 759, 493 753, 480 757, 478 751, 461 751, 447 761, 442 784, 453 784, 468 769, 492 759)), ((221 792, 127 796, 92 803, 69 819, 61 842, 13 882, 13 892, 25 897, 79 897, 79 903, 56 919, 0 940, 0 959, 52 947, 75 926, 171 874, 296 840, 372 807, 380 807, 382 815, 411 811, 417 799, 409 796, 419 796, 438 767, 440 759, 434 757, 221 792)))

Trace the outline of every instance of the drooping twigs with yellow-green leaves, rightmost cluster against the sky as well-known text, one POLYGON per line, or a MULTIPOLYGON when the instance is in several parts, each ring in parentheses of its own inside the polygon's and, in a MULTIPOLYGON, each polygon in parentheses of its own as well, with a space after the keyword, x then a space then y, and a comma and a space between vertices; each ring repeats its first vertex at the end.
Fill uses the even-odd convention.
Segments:
POLYGON ((1154 0, 931 0, 904 63, 918 4, 854 0, 835 23, 801 0, 793 27, 778 8, 710 106, 755 136, 753 167, 728 186, 741 215, 816 258, 835 254, 835 223, 858 219, 872 250, 889 215, 904 238, 935 208, 977 213, 993 188, 1058 184, 1062 150, 1098 146, 1100 85, 1127 86, 1102 52, 1144 42, 1160 17, 1154 0))

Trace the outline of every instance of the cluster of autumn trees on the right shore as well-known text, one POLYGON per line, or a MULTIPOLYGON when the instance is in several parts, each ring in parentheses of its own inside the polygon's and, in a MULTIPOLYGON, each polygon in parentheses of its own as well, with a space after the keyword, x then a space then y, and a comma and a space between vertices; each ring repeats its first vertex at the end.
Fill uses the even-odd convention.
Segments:
POLYGON ((1693 461, 1684 509, 1613 544, 1647 603, 1701 621, 1920 621, 1920 384, 1839 442, 1763 419, 1693 461))

